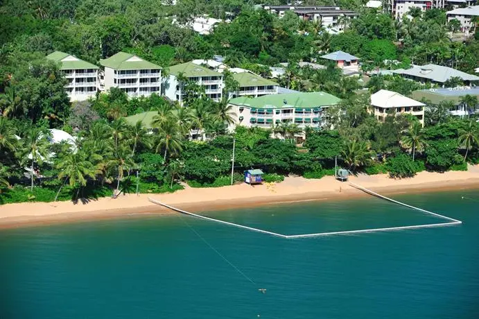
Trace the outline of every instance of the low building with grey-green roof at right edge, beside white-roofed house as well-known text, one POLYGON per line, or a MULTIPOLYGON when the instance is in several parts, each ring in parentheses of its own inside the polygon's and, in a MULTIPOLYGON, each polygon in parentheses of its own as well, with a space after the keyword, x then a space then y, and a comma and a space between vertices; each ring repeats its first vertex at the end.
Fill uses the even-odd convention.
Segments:
POLYGON ((449 109, 451 115, 455 117, 467 117, 476 114, 479 105, 466 105, 462 99, 466 96, 476 96, 479 100, 479 87, 447 87, 441 89, 419 89, 412 92, 412 98, 418 101, 428 101, 428 103, 439 104, 442 101, 451 102, 453 107, 449 109))

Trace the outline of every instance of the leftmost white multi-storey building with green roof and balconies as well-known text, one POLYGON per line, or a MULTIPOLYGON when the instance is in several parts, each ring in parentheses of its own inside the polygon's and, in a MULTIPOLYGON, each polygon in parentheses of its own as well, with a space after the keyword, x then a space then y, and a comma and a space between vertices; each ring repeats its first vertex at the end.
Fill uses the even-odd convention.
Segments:
POLYGON ((99 68, 95 64, 60 51, 46 55, 46 58, 60 64, 60 70, 68 80, 65 89, 71 101, 84 101, 98 92, 99 68))

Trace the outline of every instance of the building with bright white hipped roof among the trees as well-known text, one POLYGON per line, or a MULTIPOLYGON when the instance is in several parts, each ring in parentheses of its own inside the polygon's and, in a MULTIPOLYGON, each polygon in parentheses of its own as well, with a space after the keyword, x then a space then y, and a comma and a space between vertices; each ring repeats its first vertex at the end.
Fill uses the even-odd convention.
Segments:
POLYGON ((381 89, 371 95, 371 105, 371 112, 374 112, 374 117, 378 121, 384 122, 391 112, 393 114, 412 114, 424 127, 424 107, 426 105, 412 98, 381 89))

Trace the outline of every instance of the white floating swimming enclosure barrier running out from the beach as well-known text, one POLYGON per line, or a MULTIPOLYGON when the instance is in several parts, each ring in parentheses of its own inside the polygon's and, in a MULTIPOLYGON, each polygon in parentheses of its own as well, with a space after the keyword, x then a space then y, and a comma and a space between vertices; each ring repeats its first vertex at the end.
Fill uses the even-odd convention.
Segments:
MULTIPOLYGON (((399 226, 399 227, 383 227, 383 228, 371 228, 371 229, 366 229, 366 230, 346 230, 346 231, 341 231, 341 232, 319 232, 319 233, 313 233, 313 234, 297 234, 297 235, 286 235, 286 234, 279 234, 279 233, 276 233, 276 232, 268 232, 267 230, 260 230, 258 228, 254 228, 254 227, 248 227, 248 226, 245 226, 245 225, 239 225, 239 224, 235 224, 235 223, 229 223, 227 221, 221 221, 219 219, 216 219, 216 218, 211 218, 211 217, 207 217, 207 216, 201 216, 201 215, 198 215, 198 214, 193 214, 193 213, 190 213, 190 212, 186 212, 182 209, 178 209, 176 207, 173 207, 173 206, 170 206, 170 205, 166 205, 164 202, 159 202, 158 200, 153 200, 152 198, 148 198, 148 200, 150 200, 150 202, 153 202, 157 205, 161 205, 161 206, 164 206, 166 208, 169 208, 169 209, 172 209, 174 210, 175 212, 180 212, 182 214, 186 214, 186 215, 189 215, 189 216, 194 216, 194 217, 197 217, 197 218, 202 218, 202 219, 205 219, 207 221, 215 221, 216 223, 222 223, 222 224, 225 224, 225 225, 230 225, 230 226, 234 226, 234 227, 239 227, 239 228, 243 228, 243 229, 246 229, 246 230, 251 230, 253 232, 261 232, 263 234, 269 234, 269 235, 272 235, 272 236, 278 236, 278 237, 281 237, 281 238, 284 238, 284 239, 297 239, 297 238, 306 238, 306 237, 317 237, 317 236, 329 236, 329 235, 337 235, 337 234, 358 234, 358 233, 362 233, 362 232, 383 232, 383 231, 390 231, 390 230, 408 230, 408 229, 415 229, 415 228, 426 228, 426 227, 443 227, 443 226, 451 226, 451 225, 458 225, 458 224, 461 224, 462 221, 458 221, 457 219, 454 219, 454 218, 451 218, 451 217, 447 217, 447 216, 443 216, 443 215, 440 215, 440 214, 436 214, 436 213, 433 213, 433 212, 429 212, 428 210, 426 209, 421 209, 419 207, 415 207, 415 206, 412 206, 412 205, 408 205, 408 204, 405 204, 403 202, 399 202, 398 200, 393 200, 392 198, 388 198, 386 196, 382 196, 378 193, 374 193, 374 191, 371 191, 369 189, 365 189, 364 187, 360 187, 358 184, 354 184, 352 182, 349 183, 352 187, 360 190, 360 191, 364 191, 365 193, 369 193, 369 195, 372 195, 372 196, 376 196, 378 198, 382 198, 384 200, 388 200, 390 202, 394 202, 398 205, 402 205, 402 206, 405 206, 405 207, 408 207, 408 208, 412 208, 412 209, 416 209, 418 210, 419 212, 425 212, 426 214, 431 214, 431 215, 434 215, 434 216, 437 216, 439 218, 444 218, 446 219, 447 221, 449 221, 448 223, 433 223, 433 224, 424 224, 424 225, 410 225, 410 226, 399 226)), ((208 244, 209 245, 209 244, 208 244)), ((224 258, 224 257, 223 257, 224 258)), ((233 266, 233 265, 232 265, 233 266)))

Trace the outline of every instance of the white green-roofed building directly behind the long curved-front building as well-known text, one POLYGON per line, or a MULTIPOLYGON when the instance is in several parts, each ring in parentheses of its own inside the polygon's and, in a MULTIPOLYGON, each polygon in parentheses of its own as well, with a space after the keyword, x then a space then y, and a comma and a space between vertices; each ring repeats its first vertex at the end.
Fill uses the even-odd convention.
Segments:
POLYGON ((261 76, 252 73, 251 71, 243 70, 236 71, 230 69, 233 73, 233 78, 238 82, 239 89, 232 93, 232 96, 263 96, 267 94, 278 94, 278 83, 262 78, 261 76))

